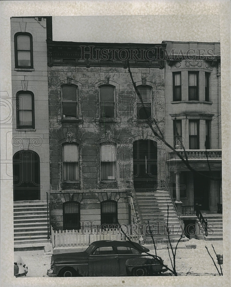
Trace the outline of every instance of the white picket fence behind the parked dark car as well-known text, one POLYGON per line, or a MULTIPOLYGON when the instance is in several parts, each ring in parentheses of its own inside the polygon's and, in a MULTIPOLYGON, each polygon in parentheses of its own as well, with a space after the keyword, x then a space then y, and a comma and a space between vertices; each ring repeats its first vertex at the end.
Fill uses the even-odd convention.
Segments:
MULTIPOLYGON (((129 234, 127 237, 131 241, 138 241, 139 234, 129 234)), ((128 240, 121 229, 106 229, 106 230, 66 230, 55 231, 51 227, 51 243, 52 247, 74 247, 88 246, 98 240, 128 240)))

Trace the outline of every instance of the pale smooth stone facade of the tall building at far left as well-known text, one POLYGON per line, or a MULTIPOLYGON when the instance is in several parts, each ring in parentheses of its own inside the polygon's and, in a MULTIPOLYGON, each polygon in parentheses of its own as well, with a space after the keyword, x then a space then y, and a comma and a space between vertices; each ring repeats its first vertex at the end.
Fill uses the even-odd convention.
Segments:
POLYGON ((11 18, 14 201, 50 192, 46 38, 46 18, 11 18))

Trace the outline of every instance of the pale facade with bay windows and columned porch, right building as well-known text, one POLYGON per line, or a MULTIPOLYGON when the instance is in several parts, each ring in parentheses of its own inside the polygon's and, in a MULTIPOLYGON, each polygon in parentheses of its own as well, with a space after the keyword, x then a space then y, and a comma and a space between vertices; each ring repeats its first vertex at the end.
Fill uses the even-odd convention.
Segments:
POLYGON ((193 173, 169 152, 169 187, 183 206, 198 204, 216 213, 222 204, 220 43, 171 42, 166 46, 166 141, 178 149, 193 173), (191 84, 190 84, 191 82, 191 84), (183 147, 185 148, 185 152, 183 147), (177 183, 178 181, 178 183, 177 183))

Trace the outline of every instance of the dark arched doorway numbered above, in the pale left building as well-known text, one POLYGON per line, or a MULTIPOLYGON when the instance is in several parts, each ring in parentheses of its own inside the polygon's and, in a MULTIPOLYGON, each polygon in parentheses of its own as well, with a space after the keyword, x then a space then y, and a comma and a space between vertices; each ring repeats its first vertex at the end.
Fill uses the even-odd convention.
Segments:
POLYGON ((13 200, 40 200, 40 161, 32 150, 13 156, 13 200))

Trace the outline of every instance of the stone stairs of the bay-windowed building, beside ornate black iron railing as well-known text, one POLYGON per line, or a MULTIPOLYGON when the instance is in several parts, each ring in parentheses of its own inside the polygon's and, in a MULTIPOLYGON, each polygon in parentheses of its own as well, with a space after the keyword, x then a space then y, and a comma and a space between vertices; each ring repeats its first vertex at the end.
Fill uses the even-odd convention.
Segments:
POLYGON ((206 241, 208 240, 223 240, 223 223, 222 215, 205 215, 202 214, 208 221, 208 236, 204 236, 206 241))

